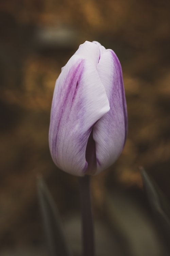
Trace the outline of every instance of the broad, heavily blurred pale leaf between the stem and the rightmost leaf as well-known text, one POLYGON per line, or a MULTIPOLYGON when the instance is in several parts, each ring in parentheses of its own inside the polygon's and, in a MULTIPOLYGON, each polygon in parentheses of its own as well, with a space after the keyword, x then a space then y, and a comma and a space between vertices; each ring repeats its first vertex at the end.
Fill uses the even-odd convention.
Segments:
POLYGON ((115 189, 106 194, 105 211, 113 230, 115 255, 165 256, 160 237, 141 205, 139 190, 132 191, 115 189))

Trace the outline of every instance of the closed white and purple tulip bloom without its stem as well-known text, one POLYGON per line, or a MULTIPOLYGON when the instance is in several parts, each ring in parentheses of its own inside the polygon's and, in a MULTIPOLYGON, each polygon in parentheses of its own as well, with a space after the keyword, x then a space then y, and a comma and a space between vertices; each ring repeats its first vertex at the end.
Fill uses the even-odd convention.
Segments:
POLYGON ((67 173, 97 174, 119 157, 127 130, 119 59, 113 50, 86 41, 56 80, 49 128, 52 159, 67 173))

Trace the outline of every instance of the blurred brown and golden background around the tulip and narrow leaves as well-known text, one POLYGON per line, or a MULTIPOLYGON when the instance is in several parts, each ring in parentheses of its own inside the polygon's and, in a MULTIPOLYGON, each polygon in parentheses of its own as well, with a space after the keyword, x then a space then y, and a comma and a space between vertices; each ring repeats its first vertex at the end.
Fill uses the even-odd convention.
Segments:
POLYGON ((91 180, 97 255, 162 255, 139 166, 170 199, 169 9, 166 0, 0 1, 1 255, 47 255, 39 174, 80 255, 78 179, 53 164, 48 129, 55 80, 86 40, 119 57, 129 116, 121 157, 91 180))

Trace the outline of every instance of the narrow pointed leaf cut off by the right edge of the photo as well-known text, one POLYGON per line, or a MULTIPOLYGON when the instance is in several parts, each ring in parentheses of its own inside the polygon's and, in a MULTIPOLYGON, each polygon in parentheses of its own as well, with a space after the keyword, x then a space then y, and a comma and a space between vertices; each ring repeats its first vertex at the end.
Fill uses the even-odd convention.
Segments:
POLYGON ((170 205, 163 192, 143 168, 141 168, 141 176, 144 191, 155 217, 156 224, 159 230, 162 231, 164 242, 166 242, 170 249, 170 205))

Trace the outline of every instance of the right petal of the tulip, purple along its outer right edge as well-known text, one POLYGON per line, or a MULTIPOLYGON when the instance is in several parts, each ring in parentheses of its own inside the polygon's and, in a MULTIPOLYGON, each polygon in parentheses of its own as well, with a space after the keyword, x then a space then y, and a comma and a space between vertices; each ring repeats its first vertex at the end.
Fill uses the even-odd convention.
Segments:
POLYGON ((97 70, 110 104, 110 111, 95 124, 93 129, 98 173, 119 157, 126 139, 128 117, 122 69, 112 50, 108 49, 101 54, 97 70))

